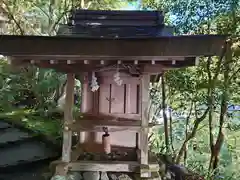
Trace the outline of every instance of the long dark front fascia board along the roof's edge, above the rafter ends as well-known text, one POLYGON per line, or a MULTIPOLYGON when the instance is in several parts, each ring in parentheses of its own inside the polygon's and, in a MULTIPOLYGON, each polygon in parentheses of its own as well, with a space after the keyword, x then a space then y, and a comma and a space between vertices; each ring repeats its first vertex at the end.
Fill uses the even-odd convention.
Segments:
MULTIPOLYGON (((220 55, 227 36, 191 35, 141 39, 87 39, 69 36, 1 35, 0 54, 5 56, 159 57, 220 55), (197 48, 196 48, 197 45, 197 48), (81 48, 79 48, 81 47, 81 48)), ((155 59, 154 59, 155 60, 155 59)))

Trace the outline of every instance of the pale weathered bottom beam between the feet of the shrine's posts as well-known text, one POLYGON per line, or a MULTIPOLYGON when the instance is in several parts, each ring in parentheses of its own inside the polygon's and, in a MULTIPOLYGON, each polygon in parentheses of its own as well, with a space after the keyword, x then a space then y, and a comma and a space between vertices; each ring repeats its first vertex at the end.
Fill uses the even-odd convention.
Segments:
POLYGON ((76 161, 69 164, 70 171, 134 172, 139 167, 135 161, 76 161))

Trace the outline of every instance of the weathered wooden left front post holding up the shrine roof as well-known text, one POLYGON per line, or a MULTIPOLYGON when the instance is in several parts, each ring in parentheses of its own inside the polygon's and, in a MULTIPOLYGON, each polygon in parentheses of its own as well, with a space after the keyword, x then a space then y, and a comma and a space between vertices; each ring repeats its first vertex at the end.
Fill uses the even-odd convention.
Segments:
MULTIPOLYGON (((67 74, 67 88, 64 104, 65 125, 73 122, 74 82, 75 75, 72 73, 67 74)), ((62 161, 64 163, 69 163, 71 161, 71 147, 72 147, 72 131, 69 131, 67 128, 64 128, 62 147, 62 161)))

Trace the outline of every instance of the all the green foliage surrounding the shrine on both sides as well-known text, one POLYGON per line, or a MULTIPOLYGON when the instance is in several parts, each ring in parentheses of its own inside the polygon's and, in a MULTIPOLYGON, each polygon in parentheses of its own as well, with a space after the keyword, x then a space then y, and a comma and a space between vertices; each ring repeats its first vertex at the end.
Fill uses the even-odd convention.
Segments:
MULTIPOLYGON (((9 18, 6 33, 52 36, 59 25, 67 23, 73 8, 117 9, 126 2, 3 0, 0 8, 9 18)), ((176 163, 209 178, 239 179, 240 116, 226 112, 224 107, 240 104, 240 2, 143 0, 142 6, 164 10, 166 23, 176 27, 176 34, 230 35, 232 57, 201 58, 197 67, 165 72, 164 89, 162 80, 152 85, 153 114, 165 116, 167 126, 153 132, 150 147, 156 153, 172 153, 176 163)), ((10 116, 26 127, 59 136, 60 123, 56 119, 61 115, 54 119, 49 114, 64 94, 65 82, 66 76, 61 73, 35 67, 12 69, 1 58, 0 117, 10 116), (16 113, 15 109, 22 106, 33 110, 16 113)), ((158 119, 156 116, 153 120, 158 119)))

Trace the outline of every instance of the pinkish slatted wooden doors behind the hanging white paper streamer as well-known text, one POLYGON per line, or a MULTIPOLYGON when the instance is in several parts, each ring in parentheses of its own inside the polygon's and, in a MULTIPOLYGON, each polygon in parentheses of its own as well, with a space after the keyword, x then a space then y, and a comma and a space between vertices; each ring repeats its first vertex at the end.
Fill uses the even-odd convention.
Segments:
POLYGON ((100 74, 99 112, 116 116, 134 117, 140 112, 140 78, 121 73, 123 84, 113 79, 115 72, 100 74))

